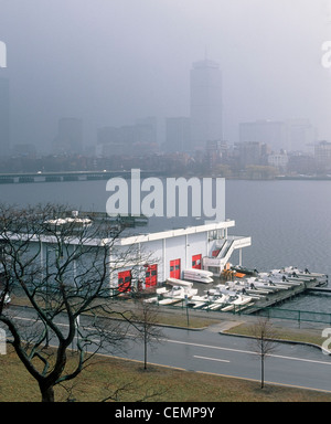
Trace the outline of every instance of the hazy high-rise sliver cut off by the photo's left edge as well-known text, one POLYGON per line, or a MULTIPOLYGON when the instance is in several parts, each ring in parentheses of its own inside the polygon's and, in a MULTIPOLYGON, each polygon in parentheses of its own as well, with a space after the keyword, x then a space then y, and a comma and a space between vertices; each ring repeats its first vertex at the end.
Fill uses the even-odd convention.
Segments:
POLYGON ((0 160, 10 152, 9 80, 0 78, 0 160))

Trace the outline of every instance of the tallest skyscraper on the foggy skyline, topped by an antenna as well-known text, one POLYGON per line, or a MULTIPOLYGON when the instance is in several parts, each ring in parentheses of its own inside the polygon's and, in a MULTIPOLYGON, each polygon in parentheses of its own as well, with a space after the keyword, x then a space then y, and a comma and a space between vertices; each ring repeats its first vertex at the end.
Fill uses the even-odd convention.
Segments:
POLYGON ((223 140, 222 72, 207 59, 191 70, 191 148, 205 149, 207 141, 223 140))

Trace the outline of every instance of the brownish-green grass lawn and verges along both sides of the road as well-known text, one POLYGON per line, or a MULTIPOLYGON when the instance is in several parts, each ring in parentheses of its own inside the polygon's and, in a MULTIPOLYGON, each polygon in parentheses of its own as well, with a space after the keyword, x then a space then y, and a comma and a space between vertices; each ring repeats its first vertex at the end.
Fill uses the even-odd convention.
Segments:
MULTIPOLYGON (((190 328, 203 328, 220 324, 220 316, 190 316, 190 328)), ((185 311, 163 312, 159 322, 185 327, 185 311)), ((242 324, 227 332, 249 335, 250 326, 242 324)), ((321 344, 320 331, 303 329, 277 329, 279 339, 321 344)), ((267 367, 267 364, 266 364, 267 367)), ((55 400, 65 402, 330 402, 331 393, 268 385, 260 389, 256 381, 226 378, 199 372, 149 365, 138 361, 97 357, 73 382, 55 390, 55 400)), ((0 402, 40 402, 41 395, 34 379, 9 348, 0 356, 0 402)))

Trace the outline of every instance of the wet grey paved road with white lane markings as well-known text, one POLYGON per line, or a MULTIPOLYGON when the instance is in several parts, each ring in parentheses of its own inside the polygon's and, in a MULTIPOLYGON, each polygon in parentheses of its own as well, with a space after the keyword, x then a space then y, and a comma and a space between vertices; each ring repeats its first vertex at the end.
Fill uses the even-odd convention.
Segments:
MULTIPOLYGON (((33 319, 32 311, 20 309, 20 319, 33 319)), ((88 319, 81 317, 81 326, 88 319)), ((65 321, 62 324, 66 326, 65 321)), ((220 333, 215 327, 185 330, 166 327, 161 343, 149 349, 148 362, 183 370, 207 372, 260 381, 260 358, 256 344, 248 338, 220 333)), ((103 351, 108 354, 107 351, 103 351)), ((143 346, 134 329, 122 358, 143 360, 143 346)), ((277 343, 276 351, 265 362, 265 382, 331 392, 331 356, 318 348, 292 343, 277 343)))

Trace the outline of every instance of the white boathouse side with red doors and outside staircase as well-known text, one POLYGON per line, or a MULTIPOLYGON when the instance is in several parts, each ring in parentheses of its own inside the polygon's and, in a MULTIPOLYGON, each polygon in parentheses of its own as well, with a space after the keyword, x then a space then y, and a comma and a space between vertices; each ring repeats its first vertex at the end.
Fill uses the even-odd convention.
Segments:
MULTIPOLYGON (((184 269, 205 269, 220 276, 229 262, 234 251, 239 252, 250 246, 249 236, 228 235, 228 229, 235 222, 206 223, 185 229, 168 230, 154 233, 125 236, 118 240, 117 248, 126 250, 137 245, 141 252, 149 255, 145 264, 145 287, 162 284, 167 278, 183 278, 184 269)), ((113 276, 113 285, 131 282, 130 269, 121 269, 113 276)))

